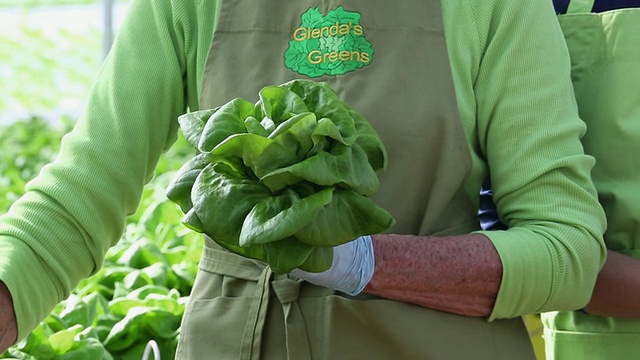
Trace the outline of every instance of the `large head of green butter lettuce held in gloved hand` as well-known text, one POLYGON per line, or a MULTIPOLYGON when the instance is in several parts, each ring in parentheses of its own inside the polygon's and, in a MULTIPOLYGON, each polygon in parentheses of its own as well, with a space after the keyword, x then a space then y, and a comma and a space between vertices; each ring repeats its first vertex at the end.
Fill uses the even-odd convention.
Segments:
POLYGON ((197 154, 167 197, 188 228, 274 272, 326 270, 334 246, 394 223, 370 198, 386 151, 326 83, 267 86, 259 99, 178 119, 197 154))

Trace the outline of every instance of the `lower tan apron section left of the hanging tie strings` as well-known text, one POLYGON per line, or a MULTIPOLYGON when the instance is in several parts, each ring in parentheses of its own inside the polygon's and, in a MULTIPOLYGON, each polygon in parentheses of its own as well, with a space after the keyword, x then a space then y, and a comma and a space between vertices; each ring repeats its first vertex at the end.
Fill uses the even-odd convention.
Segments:
POLYGON ((251 351, 243 335, 263 300, 258 289, 262 271, 250 260, 204 248, 182 319, 177 359, 240 359, 243 351, 251 351))

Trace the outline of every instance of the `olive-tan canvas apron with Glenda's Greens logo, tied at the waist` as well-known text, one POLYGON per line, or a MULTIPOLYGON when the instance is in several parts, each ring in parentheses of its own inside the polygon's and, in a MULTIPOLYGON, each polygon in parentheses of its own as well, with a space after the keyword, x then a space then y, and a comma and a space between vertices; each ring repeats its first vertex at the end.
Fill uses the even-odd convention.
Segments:
MULTIPOLYGON (((457 114, 438 1, 222 1, 201 107, 235 97, 255 101, 265 85, 306 78, 308 72, 294 72, 288 63, 290 46, 306 49, 302 62, 327 60, 324 69, 330 72, 314 79, 328 82, 380 133, 389 167, 381 174, 376 201, 397 220, 390 232, 457 234, 478 229, 463 191, 471 160, 457 114), (344 15, 336 24, 323 29, 314 23, 318 14, 336 9, 344 15), (319 28, 314 32, 309 23, 319 28), (311 43, 296 43, 326 32, 328 38, 318 39, 325 42, 322 49, 337 51, 332 44, 354 40, 333 36, 340 26, 358 30, 355 40, 371 44, 356 48, 369 52, 357 55, 361 64, 355 68, 341 70, 328 53, 312 58, 319 53, 305 47, 311 43)), ((451 360, 531 359, 533 352, 520 319, 488 323, 366 295, 349 298, 274 276, 262 264, 205 239, 177 356, 451 360)))

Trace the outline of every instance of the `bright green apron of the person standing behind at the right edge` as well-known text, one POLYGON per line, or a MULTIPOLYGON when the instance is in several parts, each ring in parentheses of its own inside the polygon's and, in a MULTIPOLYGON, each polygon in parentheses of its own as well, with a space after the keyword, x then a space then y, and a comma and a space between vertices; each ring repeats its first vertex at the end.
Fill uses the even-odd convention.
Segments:
MULTIPOLYGON (((640 259, 640 8, 591 13, 572 0, 559 21, 571 55, 585 152, 607 214, 607 247, 640 259)), ((630 289, 630 291, 632 291, 630 289)), ((638 359, 640 321, 583 312, 543 315, 550 359, 638 359)))

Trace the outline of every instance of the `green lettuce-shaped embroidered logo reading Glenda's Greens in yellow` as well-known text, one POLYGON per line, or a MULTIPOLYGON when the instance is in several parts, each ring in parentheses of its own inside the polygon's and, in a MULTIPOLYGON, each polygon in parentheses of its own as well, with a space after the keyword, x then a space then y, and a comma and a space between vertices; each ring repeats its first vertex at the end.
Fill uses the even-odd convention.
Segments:
POLYGON ((312 78, 343 75, 373 60, 373 47, 365 38, 359 13, 339 6, 322 16, 316 7, 301 19, 284 53, 289 69, 312 78))

